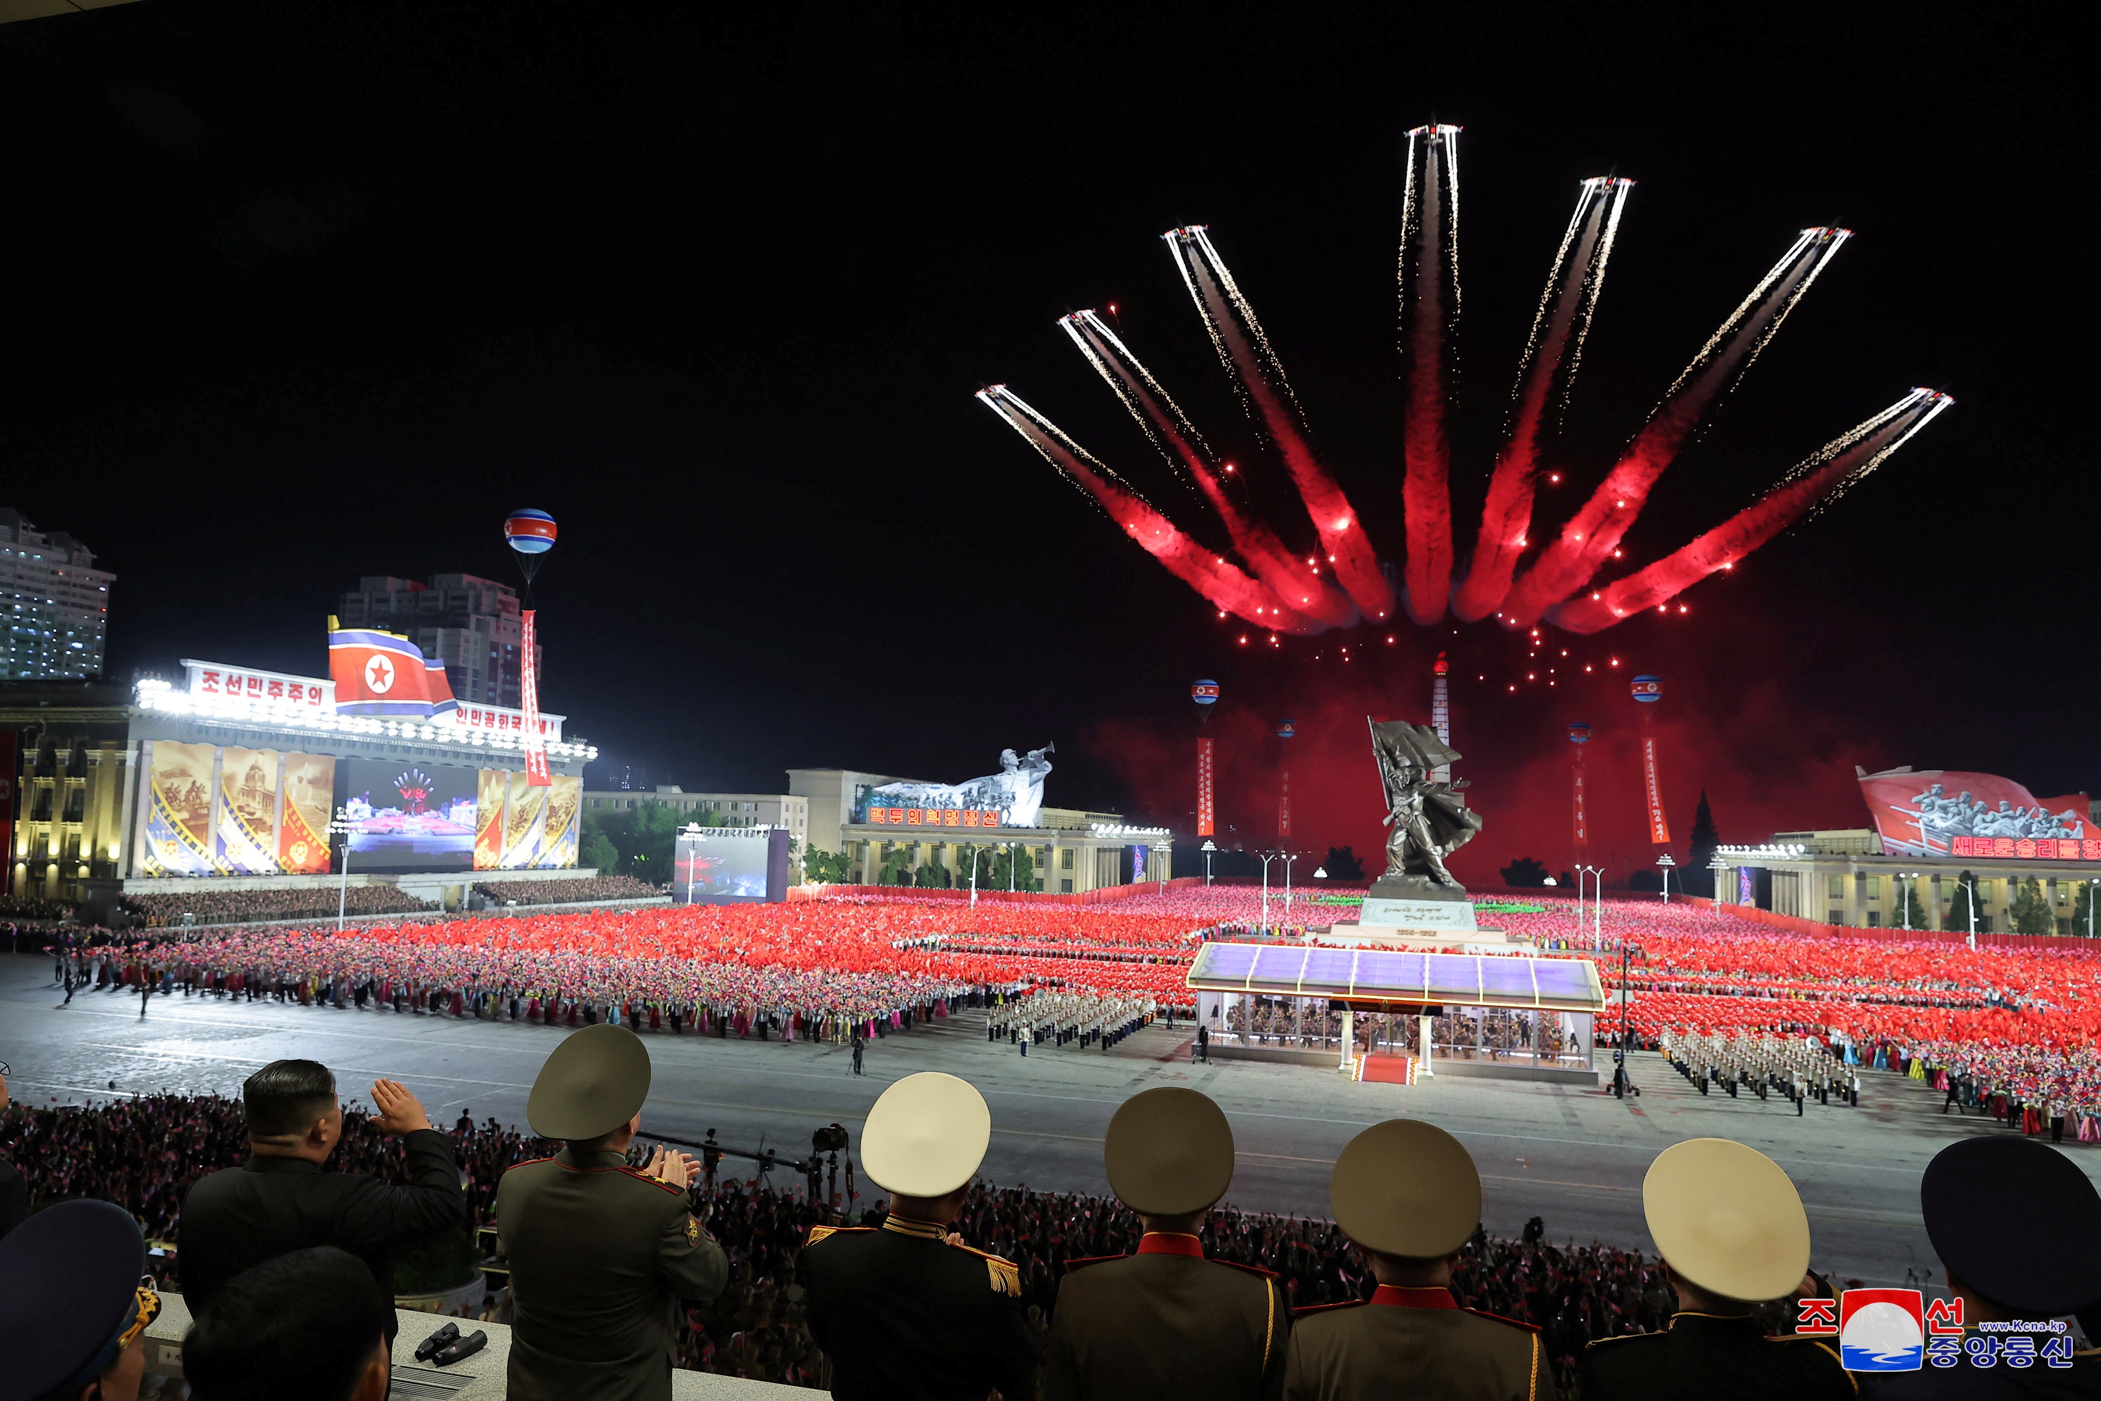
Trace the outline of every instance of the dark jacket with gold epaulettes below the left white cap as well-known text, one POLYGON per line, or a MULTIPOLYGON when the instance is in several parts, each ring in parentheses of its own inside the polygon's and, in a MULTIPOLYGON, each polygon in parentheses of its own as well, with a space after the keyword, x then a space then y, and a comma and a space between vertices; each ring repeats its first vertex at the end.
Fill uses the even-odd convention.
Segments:
POLYGON ((838 1401, 983 1401, 994 1386, 1029 1395, 1036 1342, 1021 1271, 943 1237, 897 1216, 880 1229, 811 1227, 796 1281, 838 1401))

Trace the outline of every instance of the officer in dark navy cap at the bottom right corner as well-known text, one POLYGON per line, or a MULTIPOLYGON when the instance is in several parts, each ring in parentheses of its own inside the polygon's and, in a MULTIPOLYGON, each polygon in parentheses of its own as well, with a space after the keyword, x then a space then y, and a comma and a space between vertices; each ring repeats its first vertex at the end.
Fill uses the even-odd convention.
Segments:
POLYGON ((1952 1365, 1929 1355, 1916 1372, 1861 1374, 1861 1395, 2101 1397, 2093 1334, 2082 1348, 2053 1323, 2078 1313, 2090 1327, 2101 1304, 2101 1195, 2086 1174, 2036 1138, 1962 1138, 1927 1164, 1918 1206, 1948 1288, 1962 1300, 1964 1332, 1950 1348, 1952 1365))

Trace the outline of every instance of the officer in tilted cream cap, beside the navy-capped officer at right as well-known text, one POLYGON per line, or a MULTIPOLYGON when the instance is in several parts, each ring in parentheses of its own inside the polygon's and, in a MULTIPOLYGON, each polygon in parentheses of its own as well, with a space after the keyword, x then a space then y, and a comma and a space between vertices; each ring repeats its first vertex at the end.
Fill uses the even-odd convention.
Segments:
POLYGON ((1836 1340, 1769 1338, 1750 1311, 1809 1273, 1809 1216, 1780 1164, 1729 1138, 1674 1143, 1641 1180, 1641 1212, 1679 1311, 1666 1332, 1584 1348, 1584 1401, 1851 1401, 1836 1340))

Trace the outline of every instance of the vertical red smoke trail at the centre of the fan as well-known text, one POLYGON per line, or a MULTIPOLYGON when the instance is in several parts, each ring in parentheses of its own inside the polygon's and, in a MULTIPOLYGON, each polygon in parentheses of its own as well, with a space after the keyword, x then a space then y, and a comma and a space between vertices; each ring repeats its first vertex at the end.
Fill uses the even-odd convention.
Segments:
POLYGON ((1408 365, 1408 618, 1433 624, 1452 594, 1452 443, 1445 437, 1445 319, 1458 317, 1458 132, 1418 126, 1408 132, 1408 193, 1401 202, 1401 359, 1408 365), (1420 160, 1418 160, 1420 155, 1420 160), (1420 170, 1420 187, 1416 172, 1420 170), (1416 298, 1408 305, 1410 265, 1416 298), (1445 305, 1450 302, 1450 311, 1445 305))

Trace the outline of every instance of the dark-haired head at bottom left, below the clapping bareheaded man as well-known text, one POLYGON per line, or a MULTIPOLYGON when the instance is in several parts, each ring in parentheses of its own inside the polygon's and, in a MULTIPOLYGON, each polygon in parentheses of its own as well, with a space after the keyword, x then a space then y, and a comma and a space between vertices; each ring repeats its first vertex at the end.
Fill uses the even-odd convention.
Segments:
POLYGON ((195 1401, 345 1401, 387 1336, 393 1304, 363 1260, 315 1246, 242 1271, 183 1336, 195 1401))

